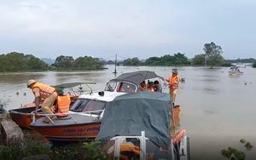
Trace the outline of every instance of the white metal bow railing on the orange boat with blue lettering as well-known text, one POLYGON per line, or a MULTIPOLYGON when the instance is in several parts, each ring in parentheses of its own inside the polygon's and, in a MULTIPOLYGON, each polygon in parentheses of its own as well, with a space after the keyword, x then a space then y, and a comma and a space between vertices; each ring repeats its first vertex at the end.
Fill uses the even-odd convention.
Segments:
MULTIPOLYGON (((42 109, 39 109, 38 111, 40 111, 40 110, 42 110, 42 109)), ((87 116, 86 114, 89 114, 90 117, 93 120, 96 120, 96 119, 100 119, 101 115, 96 116, 96 115, 92 115, 91 113, 93 113, 93 112, 102 112, 102 111, 104 111, 104 110, 84 111, 84 112, 68 112, 67 115, 70 116, 73 119, 74 123, 77 123, 75 118, 72 116, 73 114, 81 115, 81 116, 87 116), (96 116, 96 117, 94 117, 94 116, 96 116)), ((36 123, 36 113, 35 113, 35 111, 32 111, 31 114, 32 114, 32 123, 36 123)), ((53 114, 38 113, 37 116, 45 116, 46 118, 49 119, 49 121, 51 123, 54 124, 53 120, 49 116, 62 115, 62 114, 63 113, 53 113, 53 114)), ((66 114, 66 113, 64 113, 64 114, 66 114)))

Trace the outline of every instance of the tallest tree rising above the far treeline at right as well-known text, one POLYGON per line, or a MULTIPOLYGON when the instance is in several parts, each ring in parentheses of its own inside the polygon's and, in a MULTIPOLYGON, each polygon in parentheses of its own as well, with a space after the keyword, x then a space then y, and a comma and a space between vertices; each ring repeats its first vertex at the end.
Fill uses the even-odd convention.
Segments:
POLYGON ((222 48, 215 43, 206 43, 204 47, 206 53, 207 64, 211 66, 217 65, 222 59, 223 54, 222 48))

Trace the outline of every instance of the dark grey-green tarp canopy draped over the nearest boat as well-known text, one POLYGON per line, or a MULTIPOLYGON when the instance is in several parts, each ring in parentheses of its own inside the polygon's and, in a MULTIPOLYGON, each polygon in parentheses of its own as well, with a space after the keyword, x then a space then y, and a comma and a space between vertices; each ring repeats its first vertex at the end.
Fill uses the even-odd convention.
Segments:
POLYGON ((170 116, 172 97, 160 92, 124 94, 107 103, 96 140, 102 145, 114 136, 146 137, 167 149, 171 144, 170 116))

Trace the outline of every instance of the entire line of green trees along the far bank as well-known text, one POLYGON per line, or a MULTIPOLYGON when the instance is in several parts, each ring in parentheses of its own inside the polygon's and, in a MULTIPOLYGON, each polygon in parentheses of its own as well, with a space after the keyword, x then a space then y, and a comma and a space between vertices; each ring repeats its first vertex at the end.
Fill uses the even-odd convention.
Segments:
MULTIPOLYGON (((232 66, 231 63, 254 63, 250 59, 224 60, 223 50, 217 44, 205 43, 202 49, 204 54, 196 54, 189 60, 185 54, 166 54, 160 57, 149 57, 147 60, 139 58, 128 58, 119 61, 117 66, 232 66)), ((49 60, 50 62, 50 60, 49 60)), ((0 54, 0 71, 68 71, 68 70, 102 70, 107 69, 105 65, 114 65, 113 60, 100 60, 91 56, 81 56, 74 59, 73 56, 60 55, 53 64, 47 64, 32 54, 22 54, 12 52, 9 54, 0 54)))

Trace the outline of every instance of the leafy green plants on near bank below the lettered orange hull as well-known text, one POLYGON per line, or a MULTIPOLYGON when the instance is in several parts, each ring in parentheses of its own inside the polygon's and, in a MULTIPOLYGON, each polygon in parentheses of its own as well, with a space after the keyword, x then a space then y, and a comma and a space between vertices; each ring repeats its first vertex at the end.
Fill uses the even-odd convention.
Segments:
MULTIPOLYGON (((35 134, 33 130, 24 129, 24 146, 16 145, 0 146, 0 160, 20 160, 25 157, 37 157, 36 159, 52 159, 52 160, 112 160, 105 157, 105 153, 97 144, 100 141, 91 141, 90 143, 75 143, 65 146, 52 146, 49 142, 44 141, 44 137, 35 134)), ((118 159, 118 158, 113 158, 118 159)))

